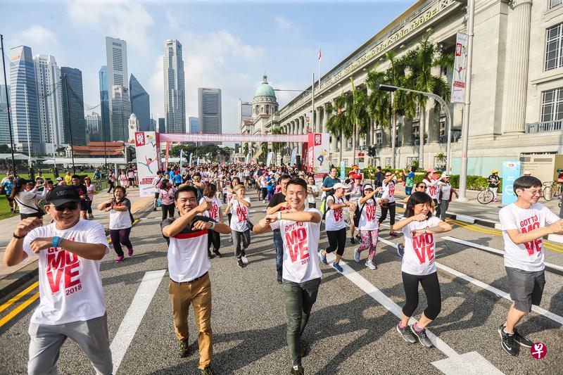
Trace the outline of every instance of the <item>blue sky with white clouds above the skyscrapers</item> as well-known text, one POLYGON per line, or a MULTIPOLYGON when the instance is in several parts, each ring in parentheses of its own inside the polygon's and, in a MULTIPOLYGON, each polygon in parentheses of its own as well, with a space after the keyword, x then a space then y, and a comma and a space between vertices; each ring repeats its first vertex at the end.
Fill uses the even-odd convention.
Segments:
MULTIPOLYGON (((223 132, 236 133, 237 101, 252 100, 264 72, 274 88, 305 89, 319 46, 324 74, 414 2, 0 0, 0 34, 6 50, 25 44, 82 70, 87 106, 99 104, 105 37, 125 39, 129 74, 150 94, 155 118, 163 115, 163 42, 178 39, 187 115, 197 116, 198 87, 222 89, 223 132)), ((279 92, 279 104, 294 94, 279 92)))

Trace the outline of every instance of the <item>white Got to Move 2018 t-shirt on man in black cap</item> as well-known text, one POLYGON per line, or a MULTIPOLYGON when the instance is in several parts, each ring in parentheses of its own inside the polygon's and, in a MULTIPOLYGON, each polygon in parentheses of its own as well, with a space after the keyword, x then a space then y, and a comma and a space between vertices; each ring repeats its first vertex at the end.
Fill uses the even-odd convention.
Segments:
POLYGON ((59 236, 68 241, 102 243, 109 253, 108 239, 98 222, 79 220, 69 229, 56 229, 55 223, 35 228, 23 240, 28 257, 39 257, 39 306, 33 312, 34 324, 65 324, 106 314, 101 286, 100 262, 70 253, 63 248, 46 248, 34 253, 30 243, 41 237, 59 236))

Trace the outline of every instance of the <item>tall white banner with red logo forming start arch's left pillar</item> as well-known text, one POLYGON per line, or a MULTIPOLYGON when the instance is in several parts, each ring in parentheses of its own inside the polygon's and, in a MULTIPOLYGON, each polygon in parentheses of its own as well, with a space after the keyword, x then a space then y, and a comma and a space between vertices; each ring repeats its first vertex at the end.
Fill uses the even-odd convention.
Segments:
POLYGON ((154 196, 153 179, 158 172, 158 152, 155 132, 135 132, 139 196, 154 196))

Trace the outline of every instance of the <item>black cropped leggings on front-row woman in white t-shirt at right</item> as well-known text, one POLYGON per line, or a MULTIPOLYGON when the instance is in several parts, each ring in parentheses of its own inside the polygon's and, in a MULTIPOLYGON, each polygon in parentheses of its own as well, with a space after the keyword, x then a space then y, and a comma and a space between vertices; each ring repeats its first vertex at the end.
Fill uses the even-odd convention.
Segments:
POLYGON ((436 319, 440 310, 442 310, 442 296, 440 293, 440 284, 438 283, 438 274, 436 272, 427 275, 413 275, 401 272, 403 274, 403 287, 405 288, 405 306, 403 314, 412 317, 412 313, 417 310, 418 306, 418 283, 422 285, 428 307, 424 310, 424 316, 430 320, 436 319))

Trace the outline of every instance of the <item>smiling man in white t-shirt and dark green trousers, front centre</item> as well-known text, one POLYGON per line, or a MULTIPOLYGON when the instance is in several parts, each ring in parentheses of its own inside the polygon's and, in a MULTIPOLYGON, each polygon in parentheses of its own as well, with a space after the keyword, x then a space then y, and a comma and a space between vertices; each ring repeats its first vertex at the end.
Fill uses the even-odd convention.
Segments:
POLYGON ((319 248, 322 214, 316 208, 305 208, 307 182, 292 178, 286 186, 291 212, 278 211, 254 226, 254 233, 273 229, 281 231, 284 243, 282 286, 287 315, 287 345, 291 353, 291 374, 303 375, 301 357, 305 345, 301 336, 310 317, 312 305, 317 300, 321 284, 319 248))

